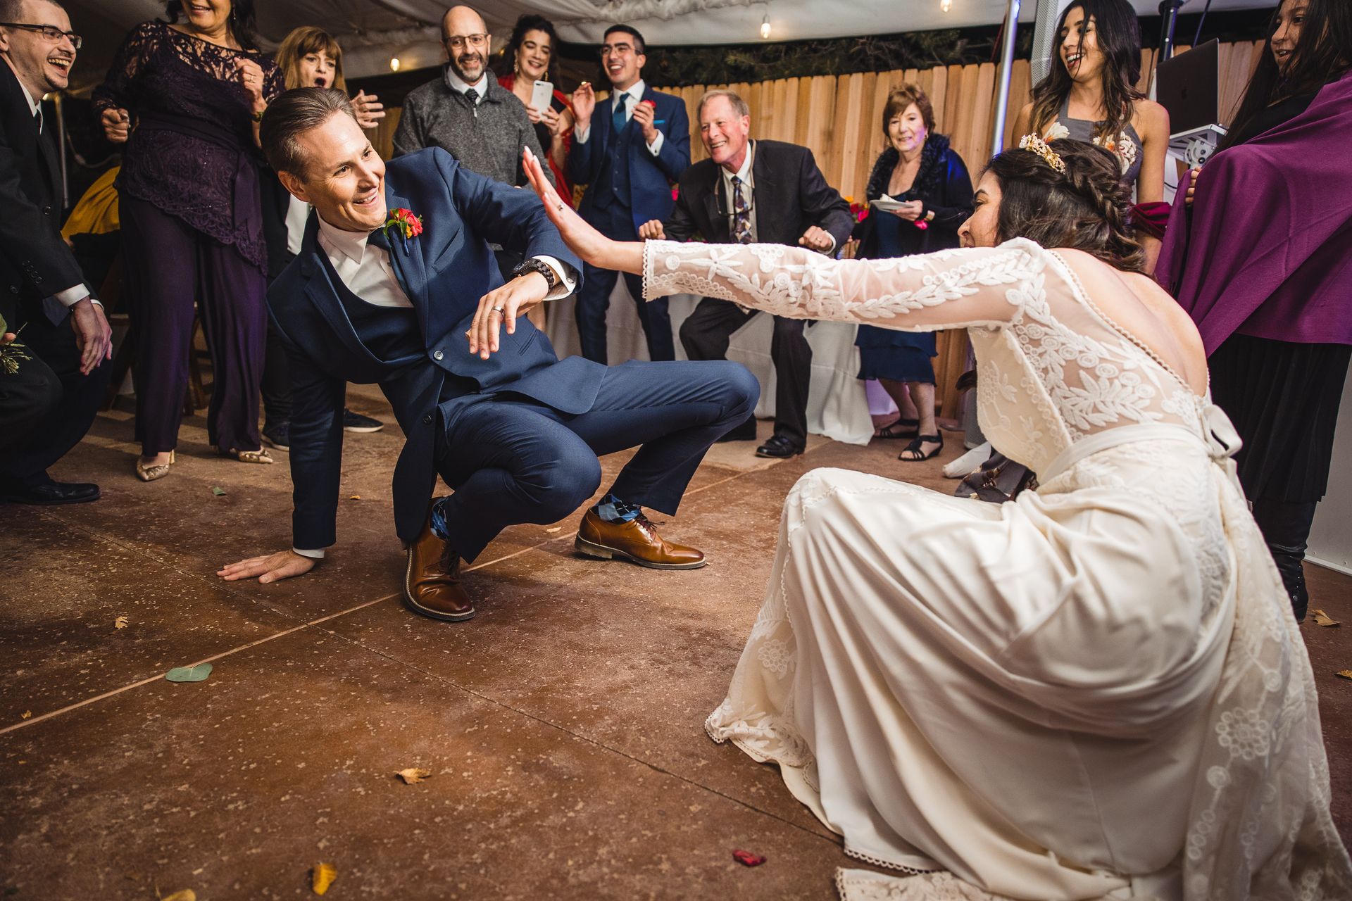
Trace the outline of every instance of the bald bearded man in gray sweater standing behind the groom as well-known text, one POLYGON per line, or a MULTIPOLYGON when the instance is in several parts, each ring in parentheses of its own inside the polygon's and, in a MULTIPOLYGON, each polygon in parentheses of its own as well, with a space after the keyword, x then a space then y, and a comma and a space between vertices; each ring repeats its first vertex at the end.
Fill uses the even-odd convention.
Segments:
POLYGON ((469 7, 452 7, 441 20, 450 62, 442 77, 404 99, 395 155, 441 147, 460 165, 508 185, 526 184, 521 150, 545 159, 526 107, 488 72, 488 26, 469 7))

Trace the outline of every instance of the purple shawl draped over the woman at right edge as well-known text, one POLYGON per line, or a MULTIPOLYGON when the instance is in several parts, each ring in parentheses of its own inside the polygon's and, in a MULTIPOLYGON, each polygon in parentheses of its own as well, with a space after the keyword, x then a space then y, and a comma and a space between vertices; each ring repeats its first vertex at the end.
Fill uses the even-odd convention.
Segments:
POLYGON ((1180 186, 1156 278, 1210 355, 1232 334, 1352 344, 1352 74, 1180 186))

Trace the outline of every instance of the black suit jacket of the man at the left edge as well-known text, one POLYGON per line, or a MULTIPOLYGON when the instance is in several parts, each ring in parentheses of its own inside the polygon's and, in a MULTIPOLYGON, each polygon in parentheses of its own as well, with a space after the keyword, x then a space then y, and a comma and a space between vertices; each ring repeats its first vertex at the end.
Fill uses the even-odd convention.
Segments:
POLYGON ((0 313, 11 323, 20 307, 24 317, 37 316, 43 297, 82 282, 61 239, 57 149, 38 132, 19 80, 0 61, 0 313))

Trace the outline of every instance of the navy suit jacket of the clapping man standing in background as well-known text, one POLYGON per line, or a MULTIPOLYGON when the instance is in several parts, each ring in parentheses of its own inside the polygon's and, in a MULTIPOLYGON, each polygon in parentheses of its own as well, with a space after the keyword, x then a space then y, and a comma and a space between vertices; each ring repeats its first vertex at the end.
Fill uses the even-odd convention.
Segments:
MULTIPOLYGON (((644 100, 657 104, 653 124, 662 132, 662 149, 654 157, 644 142, 642 128, 633 119, 625 124, 629 132, 629 208, 637 230, 649 219, 665 220, 672 212, 672 184, 690 166, 690 116, 685 101, 669 93, 644 86, 644 100)), ((604 166, 611 165, 611 147, 617 135, 611 124, 610 99, 599 100, 592 112, 591 134, 585 143, 573 140, 568 151, 568 177, 579 185, 589 185, 577 212, 587 222, 595 222, 596 180, 604 166)))

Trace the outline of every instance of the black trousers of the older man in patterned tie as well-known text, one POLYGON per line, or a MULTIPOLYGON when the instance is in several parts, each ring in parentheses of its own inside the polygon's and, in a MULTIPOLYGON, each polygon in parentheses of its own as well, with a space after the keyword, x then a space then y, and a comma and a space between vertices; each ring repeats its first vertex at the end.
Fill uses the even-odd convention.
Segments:
MULTIPOLYGON (((704 297, 681 323, 680 343, 691 359, 726 359, 733 332, 750 321, 737 304, 704 297)), ((804 319, 775 316, 769 357, 775 363, 775 434, 794 447, 807 444, 807 385, 813 376, 813 347, 803 335, 804 319)))

